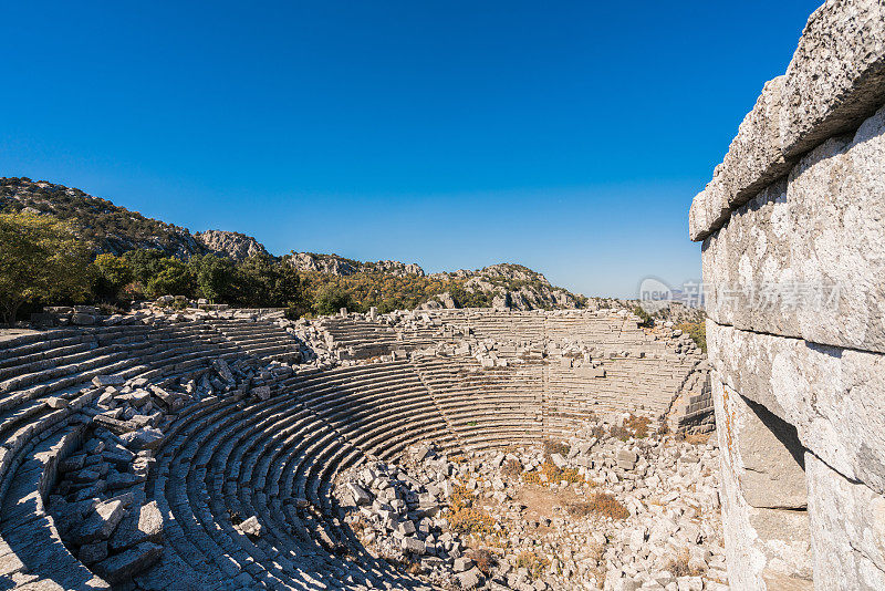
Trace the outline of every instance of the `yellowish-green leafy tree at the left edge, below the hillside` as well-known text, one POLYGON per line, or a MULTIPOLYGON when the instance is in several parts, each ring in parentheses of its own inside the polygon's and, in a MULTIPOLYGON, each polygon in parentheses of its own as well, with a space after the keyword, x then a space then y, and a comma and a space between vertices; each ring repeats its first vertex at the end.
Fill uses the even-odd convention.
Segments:
POLYGON ((0 214, 0 308, 7 324, 25 302, 85 296, 88 256, 70 227, 54 218, 0 214))

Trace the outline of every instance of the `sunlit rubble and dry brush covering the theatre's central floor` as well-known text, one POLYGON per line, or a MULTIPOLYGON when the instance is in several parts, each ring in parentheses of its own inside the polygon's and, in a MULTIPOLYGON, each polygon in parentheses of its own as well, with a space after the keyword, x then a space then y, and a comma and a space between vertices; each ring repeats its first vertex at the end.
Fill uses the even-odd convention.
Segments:
POLYGON ((623 416, 535 447, 416 445, 334 495, 374 556, 444 588, 721 590, 718 455, 623 416))

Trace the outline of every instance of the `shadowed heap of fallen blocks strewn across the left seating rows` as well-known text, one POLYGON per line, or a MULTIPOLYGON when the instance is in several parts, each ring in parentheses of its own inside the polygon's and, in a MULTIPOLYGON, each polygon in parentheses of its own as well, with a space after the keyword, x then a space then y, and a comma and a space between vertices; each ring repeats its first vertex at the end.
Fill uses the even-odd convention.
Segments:
MULTIPOLYGON (((65 546, 110 583, 129 580, 163 553, 163 516, 155 500, 146 502, 145 481, 175 413, 207 396, 267 400, 266 381, 274 369, 288 370, 243 360, 228 364, 223 359, 211 366, 184 384, 160 386, 145 377, 97 375, 83 388, 95 401, 81 408, 84 442, 59 462, 59 481, 48 508, 65 546)), ((56 406, 65 402, 54 400, 56 406)))

